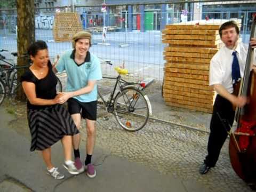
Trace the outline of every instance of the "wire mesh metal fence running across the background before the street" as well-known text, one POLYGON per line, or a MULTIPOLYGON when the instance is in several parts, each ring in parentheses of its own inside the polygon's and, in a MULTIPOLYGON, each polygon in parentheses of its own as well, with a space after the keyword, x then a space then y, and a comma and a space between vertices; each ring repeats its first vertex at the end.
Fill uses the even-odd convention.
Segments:
MULTIPOLYGON (((56 10, 52 7, 50 10, 56 10)), ((49 10, 49 8, 48 8, 49 10)), ((41 9, 41 12, 44 10, 41 9)), ((58 11, 64 11, 59 10, 58 11)), ((38 12, 38 11, 37 11, 38 12)), ((195 14, 195 13, 194 13, 195 14)), ((230 19, 227 15, 242 15, 245 18, 249 12, 221 12, 218 14, 196 13, 201 18, 211 17, 214 23, 214 16, 220 20, 230 19), (208 15, 208 16, 207 16, 208 15)), ((81 14, 81 25, 85 30, 91 31, 93 34, 93 46, 91 51, 98 55, 102 60, 110 60, 116 66, 125 65, 130 73, 139 78, 151 77, 162 81, 163 79, 163 50, 166 46, 162 43, 162 32, 159 30, 159 18, 166 17, 166 23, 178 23, 184 21, 181 12, 153 12, 149 15, 153 24, 148 26, 145 24, 145 30, 142 32, 138 24, 138 18, 149 17, 148 13, 115 13, 115 14, 81 14), (128 18, 132 18, 129 23, 128 18), (107 26, 106 26, 107 23, 107 26), (103 27, 105 27, 105 36, 102 35, 103 27)), ((184 16, 184 15, 183 15, 184 16)), ((186 21, 193 18, 190 13, 186 13, 186 21)), ((35 17, 36 39, 42 39, 49 45, 50 55, 52 58, 57 54, 61 54, 67 49, 71 49, 70 42, 54 42, 52 34, 52 26, 54 13, 40 14, 35 17)), ((250 22, 241 24, 241 37, 244 42, 249 41, 248 30, 250 30, 250 22)), ((15 11, 0 12, 0 48, 9 51, 17 51, 17 14, 15 11)), ((10 54, 5 53, 7 57, 10 54)), ((103 73, 114 75, 114 70, 109 67, 103 69, 103 73)))

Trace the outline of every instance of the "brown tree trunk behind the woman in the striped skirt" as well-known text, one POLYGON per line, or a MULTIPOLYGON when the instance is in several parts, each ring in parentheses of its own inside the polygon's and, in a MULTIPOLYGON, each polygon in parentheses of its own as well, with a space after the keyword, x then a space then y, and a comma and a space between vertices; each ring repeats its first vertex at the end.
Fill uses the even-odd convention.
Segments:
MULTIPOLYGON (((18 66, 29 65, 29 57, 24 57, 29 45, 35 42, 35 5, 34 0, 17 0, 17 50, 18 66)), ((18 69, 18 79, 25 72, 25 69, 18 69)), ((26 96, 22 87, 18 87, 17 99, 25 101, 26 96)))

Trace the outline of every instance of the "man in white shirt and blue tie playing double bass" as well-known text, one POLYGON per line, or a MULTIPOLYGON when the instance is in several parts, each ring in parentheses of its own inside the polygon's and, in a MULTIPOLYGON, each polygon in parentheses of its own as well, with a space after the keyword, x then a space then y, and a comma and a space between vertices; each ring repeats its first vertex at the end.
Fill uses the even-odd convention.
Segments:
MULTIPOLYGON (((246 98, 232 94, 234 86, 244 75, 247 46, 238 42, 239 28, 234 21, 223 23, 219 29, 221 41, 225 44, 211 59, 209 85, 217 92, 210 122, 210 135, 207 145, 207 156, 199 169, 199 173, 207 173, 218 161, 220 150, 227 138, 227 130, 221 119, 226 119, 232 126, 235 111, 233 106, 243 107, 246 98), (218 116, 219 114, 219 116, 218 116)), ((256 39, 250 44, 256 47, 256 39)))

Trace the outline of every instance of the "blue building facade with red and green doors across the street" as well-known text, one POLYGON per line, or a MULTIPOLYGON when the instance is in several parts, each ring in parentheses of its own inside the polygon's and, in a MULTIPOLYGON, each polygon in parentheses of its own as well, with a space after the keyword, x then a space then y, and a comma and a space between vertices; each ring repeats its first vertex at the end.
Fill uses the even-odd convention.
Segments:
POLYGON ((165 25, 170 23, 204 20, 205 18, 238 18, 242 20, 242 30, 248 30, 252 21, 252 13, 256 12, 256 1, 161 2, 163 1, 35 0, 35 7, 36 14, 53 15, 56 7, 73 6, 81 14, 84 28, 114 26, 119 30, 140 30, 142 32, 162 30, 165 25), (106 7, 103 3, 106 4, 106 7), (44 9, 42 9, 43 7, 44 9))

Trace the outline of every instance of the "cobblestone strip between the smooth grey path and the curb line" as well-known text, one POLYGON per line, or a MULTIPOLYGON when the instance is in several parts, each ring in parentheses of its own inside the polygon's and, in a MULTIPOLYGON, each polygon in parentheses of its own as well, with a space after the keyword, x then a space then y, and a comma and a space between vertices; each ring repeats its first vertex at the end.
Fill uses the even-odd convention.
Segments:
MULTIPOLYGON (((81 131, 86 138, 85 129, 81 131)), ((102 111, 97 121, 96 145, 110 154, 185 181, 194 179, 209 191, 251 191, 231 168, 227 142, 217 166, 206 175, 198 173, 206 154, 207 139, 207 133, 155 121, 149 121, 138 132, 127 132, 117 124, 114 116, 102 111)))

